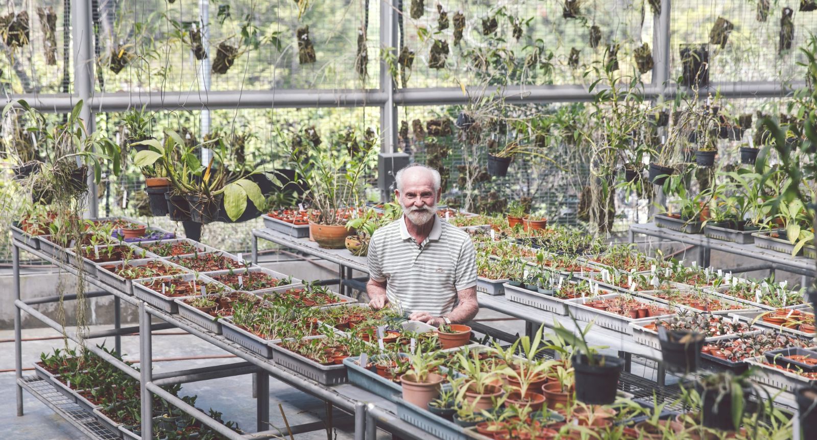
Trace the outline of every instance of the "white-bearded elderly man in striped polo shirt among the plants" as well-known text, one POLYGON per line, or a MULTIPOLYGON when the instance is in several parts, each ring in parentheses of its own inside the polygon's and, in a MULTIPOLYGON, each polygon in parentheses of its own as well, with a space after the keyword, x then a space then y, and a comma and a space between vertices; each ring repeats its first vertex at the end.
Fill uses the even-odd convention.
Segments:
POLYGON ((403 216, 369 242, 369 305, 392 304, 435 327, 471 320, 480 309, 476 252, 466 232, 437 216, 440 173, 414 163, 395 180, 403 216))

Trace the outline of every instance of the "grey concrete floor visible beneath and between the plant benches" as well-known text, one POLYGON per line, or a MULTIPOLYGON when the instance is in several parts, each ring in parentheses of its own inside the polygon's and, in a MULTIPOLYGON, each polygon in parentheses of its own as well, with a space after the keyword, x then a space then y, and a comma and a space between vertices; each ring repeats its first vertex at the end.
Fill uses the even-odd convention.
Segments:
MULTIPOLYGON (((502 314, 489 310, 483 310, 477 319, 501 318, 502 314)), ((519 320, 511 321, 491 321, 492 327, 498 327, 511 334, 523 332, 524 326, 519 320)), ((93 330, 110 328, 110 326, 94 326, 93 330)), ((168 335, 168 333, 178 333, 178 330, 165 330, 154 332, 154 359, 178 358, 178 357, 199 357, 208 355, 229 354, 221 349, 217 349, 210 344, 190 335, 168 335), (164 334, 164 336, 163 336, 164 334)), ((48 336, 60 336, 58 332, 50 328, 25 328, 23 338, 40 338, 48 336)), ((0 331, 0 370, 11 369, 11 372, 0 373, 0 438, 3 440, 74 440, 83 438, 82 433, 74 429, 71 424, 57 416, 51 409, 43 405, 29 393, 23 393, 25 416, 16 416, 16 399, 14 397, 15 374, 14 374, 14 344, 6 342, 14 340, 14 331, 0 331)), ((107 338, 105 346, 114 345, 113 338, 107 338)), ((103 339, 93 340, 95 344, 101 344, 103 339)), ((64 346, 62 339, 51 340, 29 340, 23 343, 23 367, 32 367, 34 362, 39 360, 40 353, 50 352, 52 349, 64 346)), ((72 343, 73 347, 74 344, 72 343)), ((139 358, 139 338, 137 336, 123 336, 122 351, 127 360, 138 360, 139 358)), ((154 372, 176 371, 195 367, 205 367, 221 365, 225 363, 239 362, 237 358, 218 359, 190 359, 184 361, 154 362, 154 372)), ((25 375, 33 375, 33 371, 24 371, 25 375)), ((254 432, 256 428, 256 400, 252 398, 252 376, 234 376, 229 378, 206 380, 185 384, 181 389, 182 395, 196 394, 199 398, 196 406, 207 410, 214 410, 224 413, 225 420, 234 420, 240 427, 254 432)), ((270 378, 270 423, 285 432, 283 418, 280 415, 278 404, 283 405, 283 411, 287 416, 289 424, 302 424, 324 420, 324 402, 313 398, 306 393, 301 393, 286 384, 270 378)), ((335 417, 342 414, 336 410, 335 417)), ((352 438, 352 429, 336 429, 333 438, 336 440, 346 440, 352 438)), ((381 432, 378 437, 389 438, 387 433, 381 432)), ((303 433, 297 438, 323 440, 326 438, 325 431, 313 433, 303 433)))

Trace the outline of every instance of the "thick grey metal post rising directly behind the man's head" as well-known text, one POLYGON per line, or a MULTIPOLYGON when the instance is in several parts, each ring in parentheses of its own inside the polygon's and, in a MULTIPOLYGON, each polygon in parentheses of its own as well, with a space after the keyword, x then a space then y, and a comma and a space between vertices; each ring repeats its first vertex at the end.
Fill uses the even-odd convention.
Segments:
MULTIPOLYGON (((394 52, 397 56, 397 13, 390 0, 380 2, 380 47, 382 50, 394 52)), ((389 66, 381 57, 380 61, 380 90, 386 92, 386 102, 380 109, 380 135, 382 153, 394 153, 397 146, 397 107, 395 106, 395 78, 391 78, 389 66)))

